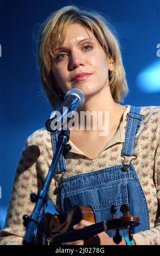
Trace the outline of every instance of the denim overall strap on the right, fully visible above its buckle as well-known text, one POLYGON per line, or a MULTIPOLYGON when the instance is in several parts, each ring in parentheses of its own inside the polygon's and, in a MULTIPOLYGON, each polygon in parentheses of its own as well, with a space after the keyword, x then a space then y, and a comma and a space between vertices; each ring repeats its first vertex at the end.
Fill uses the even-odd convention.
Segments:
POLYGON ((131 106, 130 112, 127 113, 127 127, 121 155, 132 156, 133 154, 133 148, 135 146, 135 136, 139 130, 142 120, 145 118, 145 115, 139 114, 141 108, 142 107, 131 106))

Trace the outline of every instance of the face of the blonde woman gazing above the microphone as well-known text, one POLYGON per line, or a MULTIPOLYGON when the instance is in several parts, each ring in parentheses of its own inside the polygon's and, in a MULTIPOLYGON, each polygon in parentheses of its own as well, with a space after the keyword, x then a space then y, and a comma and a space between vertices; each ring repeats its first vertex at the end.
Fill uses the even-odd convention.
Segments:
POLYGON ((94 95, 108 85, 108 69, 113 70, 110 62, 92 32, 73 23, 62 47, 53 51, 56 87, 64 93, 78 88, 86 96, 94 95))

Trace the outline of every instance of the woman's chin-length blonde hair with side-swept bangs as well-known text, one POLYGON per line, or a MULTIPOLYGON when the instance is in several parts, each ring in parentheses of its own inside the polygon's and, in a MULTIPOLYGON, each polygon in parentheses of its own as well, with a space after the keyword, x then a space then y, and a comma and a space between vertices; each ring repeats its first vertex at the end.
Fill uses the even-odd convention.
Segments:
MULTIPOLYGON (((62 97, 55 87, 52 73, 52 49, 62 46, 66 37, 67 28, 72 23, 89 29, 99 41, 108 57, 114 61, 112 76, 109 76, 109 85, 113 100, 123 101, 127 94, 125 70, 121 59, 120 46, 117 36, 109 22, 103 16, 91 11, 80 10, 75 6, 63 7, 51 14, 41 26, 40 41, 37 48, 42 88, 52 107, 61 102, 62 97)), ((62 95, 63 96, 63 95, 62 95)))

